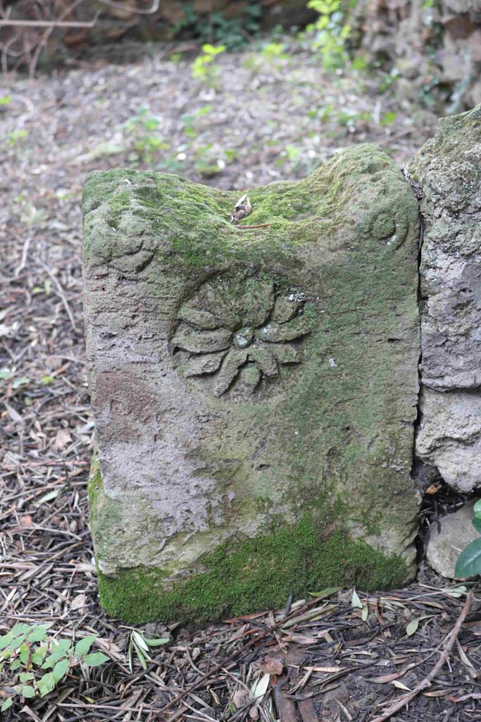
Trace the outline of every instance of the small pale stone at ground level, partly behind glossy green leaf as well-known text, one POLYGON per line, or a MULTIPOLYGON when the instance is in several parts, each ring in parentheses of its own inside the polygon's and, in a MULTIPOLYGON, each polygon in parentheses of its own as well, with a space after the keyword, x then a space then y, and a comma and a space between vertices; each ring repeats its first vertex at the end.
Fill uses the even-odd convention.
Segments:
POLYGON ((426 560, 438 574, 455 579, 456 560, 463 549, 475 539, 479 539, 472 518, 475 500, 464 504, 454 514, 447 514, 431 526, 431 536, 426 549, 426 560))

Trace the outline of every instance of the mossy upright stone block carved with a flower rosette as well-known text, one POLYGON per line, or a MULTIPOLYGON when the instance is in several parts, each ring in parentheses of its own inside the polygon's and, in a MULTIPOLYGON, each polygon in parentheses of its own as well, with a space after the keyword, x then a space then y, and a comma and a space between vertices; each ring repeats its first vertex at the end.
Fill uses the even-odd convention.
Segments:
POLYGON ((412 576, 418 205, 371 146, 238 192, 93 173, 84 306, 102 604, 214 617, 412 576))

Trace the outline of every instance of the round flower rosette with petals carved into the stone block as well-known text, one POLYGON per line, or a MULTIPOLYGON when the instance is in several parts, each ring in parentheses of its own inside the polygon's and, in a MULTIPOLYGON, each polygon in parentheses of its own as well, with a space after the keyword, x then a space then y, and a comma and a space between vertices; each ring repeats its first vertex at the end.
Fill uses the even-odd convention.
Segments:
POLYGON ((216 277, 177 313, 170 347, 186 378, 211 380, 215 396, 246 398, 302 360, 314 303, 269 278, 216 277))

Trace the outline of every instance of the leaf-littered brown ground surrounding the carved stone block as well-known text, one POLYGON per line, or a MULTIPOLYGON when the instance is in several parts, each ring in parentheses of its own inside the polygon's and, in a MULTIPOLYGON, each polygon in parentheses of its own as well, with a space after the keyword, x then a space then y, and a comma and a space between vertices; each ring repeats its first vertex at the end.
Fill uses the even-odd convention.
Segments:
MULTIPOLYGON (((131 672, 132 627, 99 607, 88 529, 85 175, 134 165, 240 195, 300 178, 358 142, 380 144, 402 167, 437 119, 384 85, 356 72, 327 76, 292 48, 219 56, 202 79, 190 59, 161 52, 0 87, 0 632, 49 620, 61 636, 97 632, 110 657, 72 671, 60 693, 21 700, 6 720, 368 722, 436 665, 466 594, 418 583, 358 591, 363 609, 352 590, 333 591, 202 630, 144 625, 169 643, 147 669, 134 656, 131 672)), ((449 661, 392 719, 481 720, 480 601, 477 591, 449 661)), ((0 701, 11 684, 0 675, 0 701)))

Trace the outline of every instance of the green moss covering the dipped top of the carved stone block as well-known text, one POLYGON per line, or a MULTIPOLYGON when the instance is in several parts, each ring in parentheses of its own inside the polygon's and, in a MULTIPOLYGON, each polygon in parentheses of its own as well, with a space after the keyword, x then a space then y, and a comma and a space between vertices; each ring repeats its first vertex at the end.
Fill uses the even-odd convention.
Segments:
MULTIPOLYGON (((242 225, 269 225, 246 230, 229 222, 238 191, 220 191, 166 173, 94 171, 84 185, 84 254, 99 264, 119 251, 131 255, 131 244, 138 241, 132 238, 134 221, 142 219, 139 236, 149 237, 162 264, 172 269, 198 271, 219 258, 226 266, 236 262, 262 269, 268 251, 269 270, 273 271, 276 262, 282 261, 284 266, 286 262, 299 263, 296 246, 311 242, 319 233, 330 234, 334 240, 340 229, 350 225, 353 193, 357 189, 363 193, 366 174, 378 182, 387 171, 393 175, 393 170, 389 157, 370 144, 340 152, 303 181, 277 181, 252 188, 252 214, 242 225), (130 233, 130 248, 120 238, 125 228, 130 233)), ((405 204, 409 214, 415 200, 405 193, 405 180, 397 173, 398 212, 403 212, 405 204)), ((389 206, 392 200, 389 197, 389 206)), ((369 218, 368 214, 366 228, 359 228, 361 234, 369 234, 369 218)))

